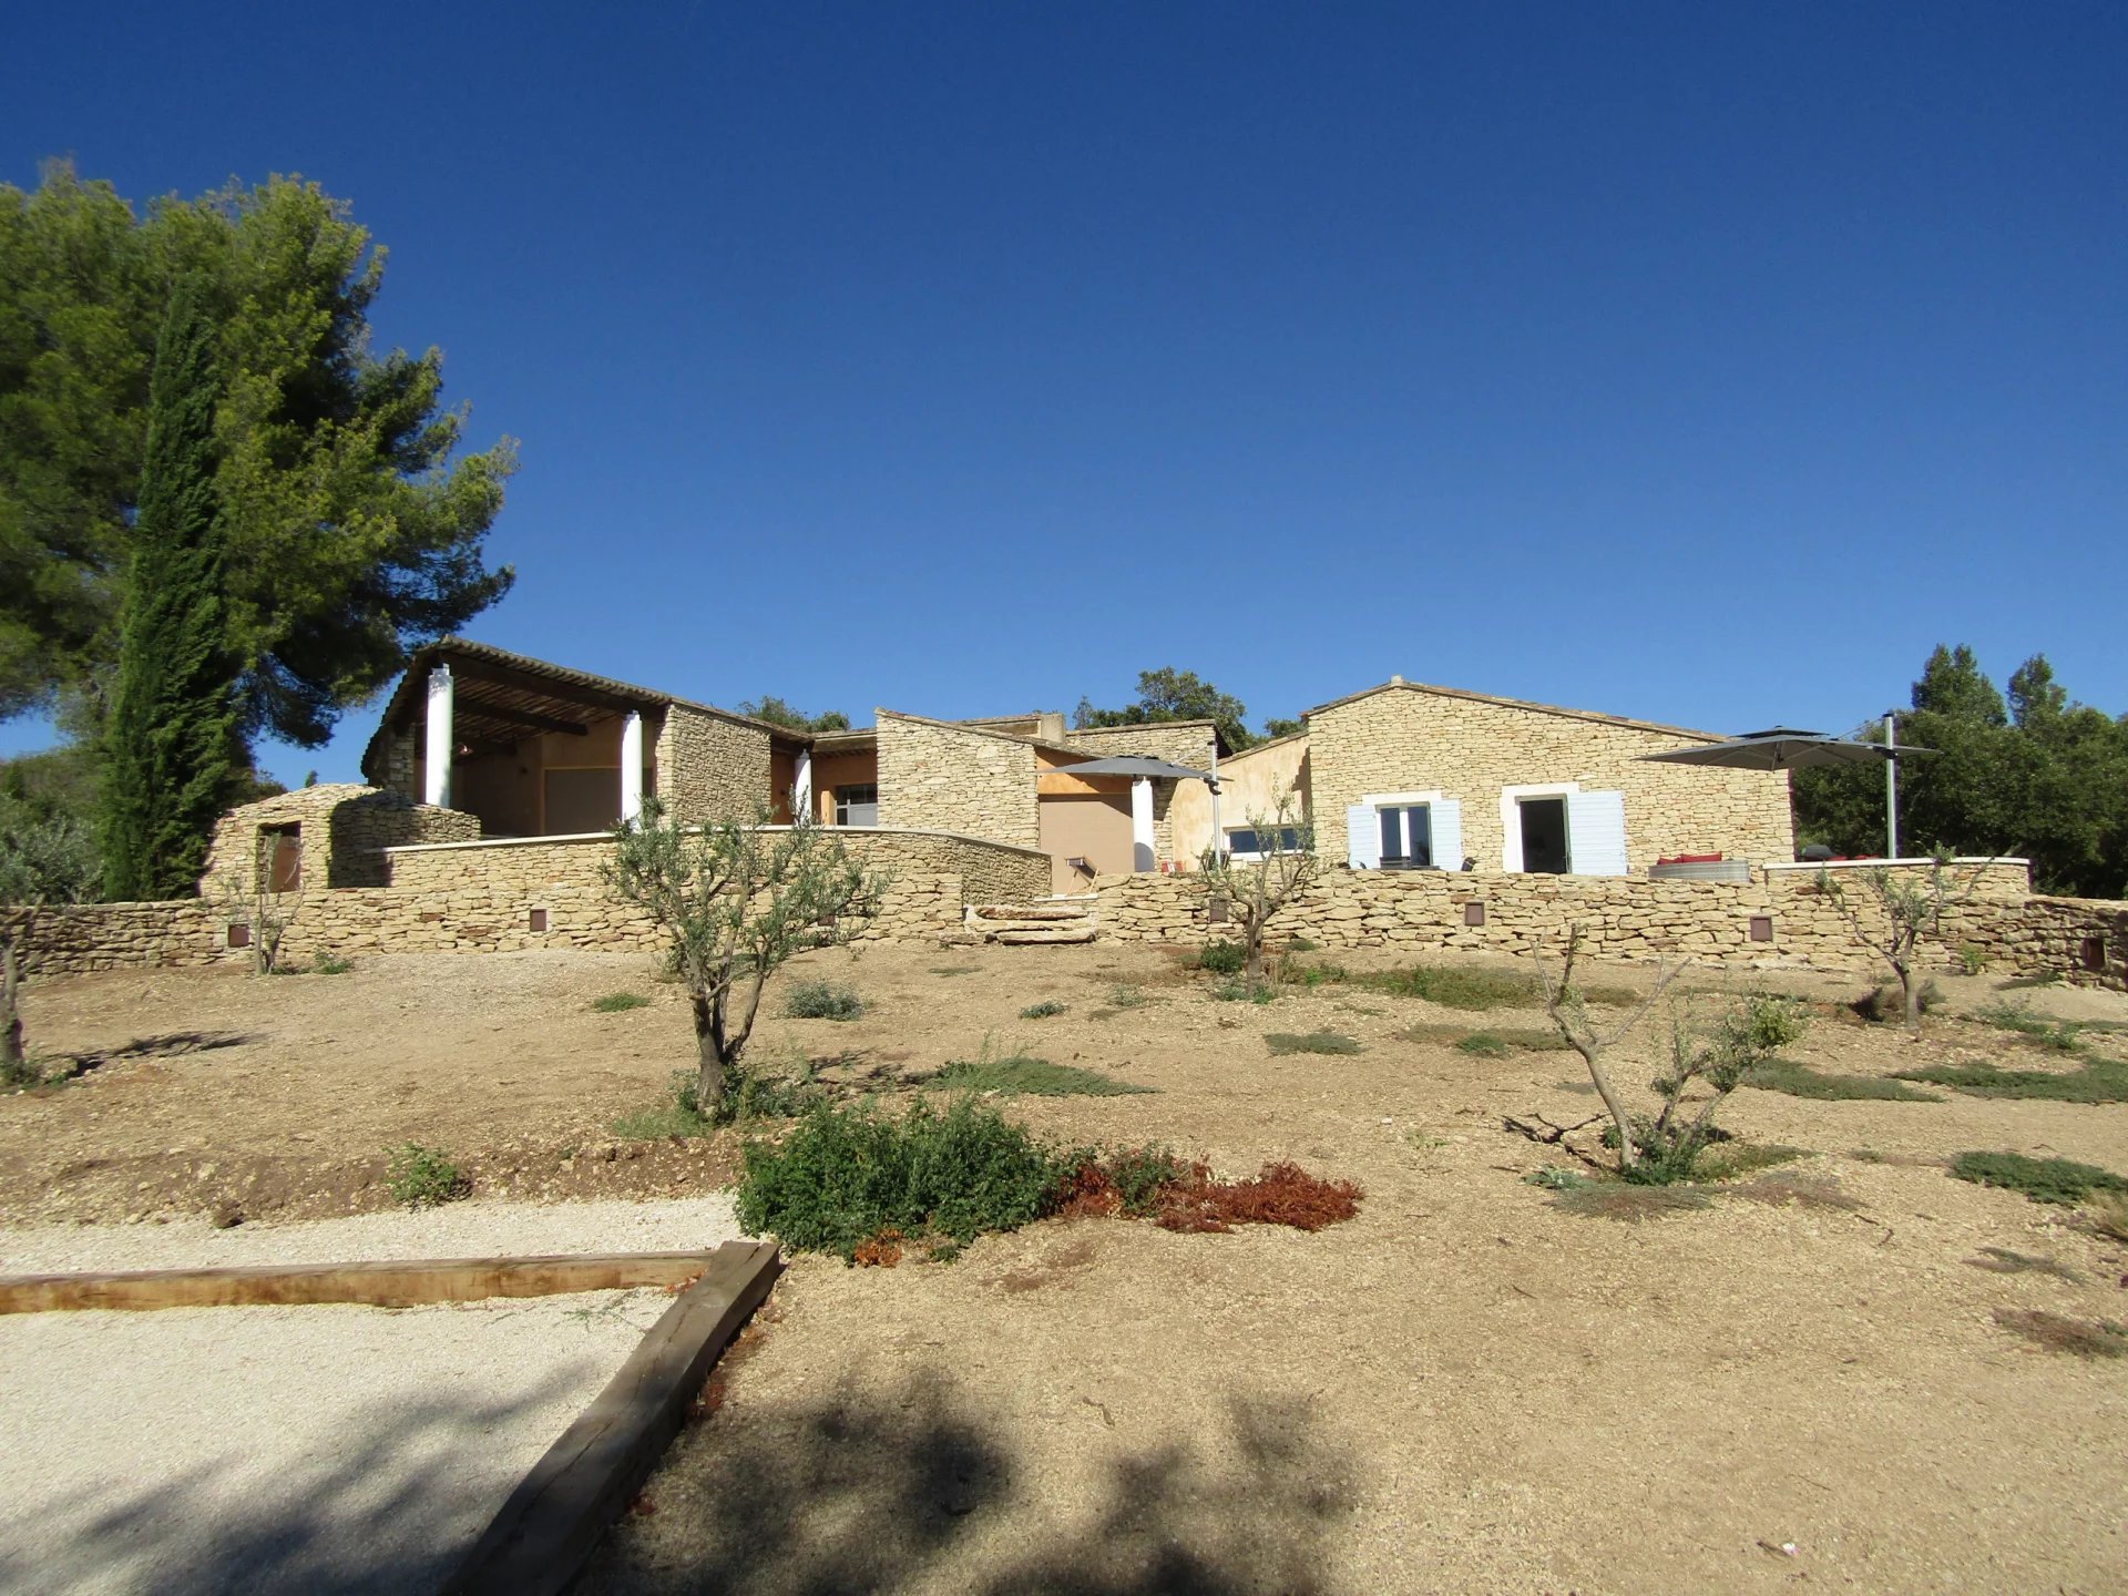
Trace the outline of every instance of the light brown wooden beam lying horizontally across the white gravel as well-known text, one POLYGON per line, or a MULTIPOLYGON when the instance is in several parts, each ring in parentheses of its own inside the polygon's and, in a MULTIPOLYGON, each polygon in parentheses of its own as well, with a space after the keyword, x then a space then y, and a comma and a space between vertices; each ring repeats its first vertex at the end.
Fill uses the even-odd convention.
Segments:
POLYGON ((362 1264, 140 1268, 106 1275, 0 1275, 0 1313, 70 1309, 234 1309, 368 1302, 406 1309, 481 1296, 555 1296, 683 1285, 715 1253, 560 1253, 362 1264))

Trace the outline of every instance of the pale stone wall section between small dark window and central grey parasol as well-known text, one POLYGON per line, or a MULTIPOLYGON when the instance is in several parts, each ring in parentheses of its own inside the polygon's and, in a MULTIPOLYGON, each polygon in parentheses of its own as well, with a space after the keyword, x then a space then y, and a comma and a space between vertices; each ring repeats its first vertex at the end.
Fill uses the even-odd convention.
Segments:
POLYGON ((1041 849, 1034 743, 885 709, 877 721, 881 826, 1041 849))

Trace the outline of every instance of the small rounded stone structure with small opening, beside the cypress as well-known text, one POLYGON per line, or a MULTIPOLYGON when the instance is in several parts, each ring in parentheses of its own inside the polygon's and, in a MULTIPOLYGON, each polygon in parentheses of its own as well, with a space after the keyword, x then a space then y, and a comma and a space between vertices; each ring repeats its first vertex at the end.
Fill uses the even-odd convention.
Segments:
POLYGON ((234 879, 251 892, 266 879, 270 828, 298 826, 304 887, 381 887, 385 849, 409 843, 470 843, 481 821, 455 809, 358 783, 300 787, 240 804, 215 824, 200 890, 234 879))

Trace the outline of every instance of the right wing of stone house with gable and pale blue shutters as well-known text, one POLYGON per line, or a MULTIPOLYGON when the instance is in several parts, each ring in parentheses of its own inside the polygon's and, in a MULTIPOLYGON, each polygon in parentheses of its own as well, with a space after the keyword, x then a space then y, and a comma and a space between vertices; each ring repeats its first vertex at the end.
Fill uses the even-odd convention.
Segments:
MULTIPOLYGON (((1315 849, 1356 870, 1636 875, 1662 858, 1794 860, 1785 772, 1645 764, 1715 732, 1392 677, 1307 711, 1307 730, 1219 768, 1221 843, 1294 792, 1315 849)), ((1177 849, 1213 843, 1209 794, 1175 804, 1177 849)))

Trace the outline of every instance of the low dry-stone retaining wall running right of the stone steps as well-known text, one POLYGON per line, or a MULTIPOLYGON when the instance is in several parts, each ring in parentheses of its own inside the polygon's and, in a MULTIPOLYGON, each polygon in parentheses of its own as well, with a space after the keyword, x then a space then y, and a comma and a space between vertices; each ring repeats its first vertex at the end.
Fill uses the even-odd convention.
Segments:
MULTIPOLYGON (((2128 987, 2128 904, 2030 896, 2022 862, 1966 866, 1956 879, 1966 872, 1975 877, 1973 892, 1945 911, 1943 934, 1924 949, 1926 960, 1949 964, 1958 947, 1971 945, 2000 975, 2128 987)), ((1871 887, 1834 879, 1864 928, 1879 930, 1883 909, 1871 887)), ((1194 879, 1107 877, 1096 892, 1102 936, 1202 943, 1215 934, 1194 879)), ((1598 958, 1881 970, 1815 870, 1775 870, 1749 883, 1328 870, 1279 915, 1277 932, 1334 949, 1558 955, 1566 928, 1577 924, 1598 958)))

